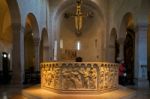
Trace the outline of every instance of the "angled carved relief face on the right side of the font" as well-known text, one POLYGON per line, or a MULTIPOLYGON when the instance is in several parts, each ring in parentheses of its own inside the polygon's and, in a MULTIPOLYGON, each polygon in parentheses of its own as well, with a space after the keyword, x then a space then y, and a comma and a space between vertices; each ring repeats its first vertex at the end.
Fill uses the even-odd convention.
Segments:
POLYGON ((118 87, 117 65, 102 64, 99 74, 99 90, 114 89, 118 87))

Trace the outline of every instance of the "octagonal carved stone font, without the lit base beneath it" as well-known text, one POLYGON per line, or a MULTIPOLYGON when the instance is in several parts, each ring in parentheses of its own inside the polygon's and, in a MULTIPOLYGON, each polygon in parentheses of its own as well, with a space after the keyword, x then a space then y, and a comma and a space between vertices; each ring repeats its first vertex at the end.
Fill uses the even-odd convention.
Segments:
POLYGON ((100 93, 118 88, 118 64, 41 63, 41 88, 58 93, 100 93))

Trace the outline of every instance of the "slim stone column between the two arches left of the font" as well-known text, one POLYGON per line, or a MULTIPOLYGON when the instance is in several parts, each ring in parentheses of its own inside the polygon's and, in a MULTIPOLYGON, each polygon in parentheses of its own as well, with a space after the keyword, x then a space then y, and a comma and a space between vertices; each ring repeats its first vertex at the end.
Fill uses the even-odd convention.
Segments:
POLYGON ((40 71, 40 38, 34 38, 34 49, 35 49, 35 59, 34 59, 35 71, 40 71))

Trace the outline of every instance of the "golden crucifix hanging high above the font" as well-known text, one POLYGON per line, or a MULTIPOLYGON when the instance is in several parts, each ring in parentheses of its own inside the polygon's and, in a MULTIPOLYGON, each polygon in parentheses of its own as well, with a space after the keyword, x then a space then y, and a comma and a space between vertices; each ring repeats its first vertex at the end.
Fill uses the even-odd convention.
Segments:
POLYGON ((74 21, 75 21, 75 29, 76 29, 76 35, 80 36, 81 35, 81 31, 82 31, 82 27, 83 27, 83 17, 92 17, 93 13, 89 12, 84 14, 81 11, 81 5, 82 5, 82 0, 77 0, 76 1, 76 12, 75 14, 70 14, 70 13, 65 13, 65 17, 68 18, 70 16, 74 17, 74 21))

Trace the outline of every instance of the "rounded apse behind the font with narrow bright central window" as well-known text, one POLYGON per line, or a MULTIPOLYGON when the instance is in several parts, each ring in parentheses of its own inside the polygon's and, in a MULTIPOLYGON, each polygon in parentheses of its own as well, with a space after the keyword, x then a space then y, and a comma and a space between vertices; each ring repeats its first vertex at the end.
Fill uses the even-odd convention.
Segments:
POLYGON ((76 57, 82 57, 83 61, 103 60, 105 25, 101 13, 95 10, 93 5, 89 5, 86 1, 80 5, 72 3, 58 16, 56 34, 58 33, 59 39, 63 42, 63 48, 59 49, 60 60, 75 61, 76 57), (79 16, 78 25, 77 16, 79 16))

